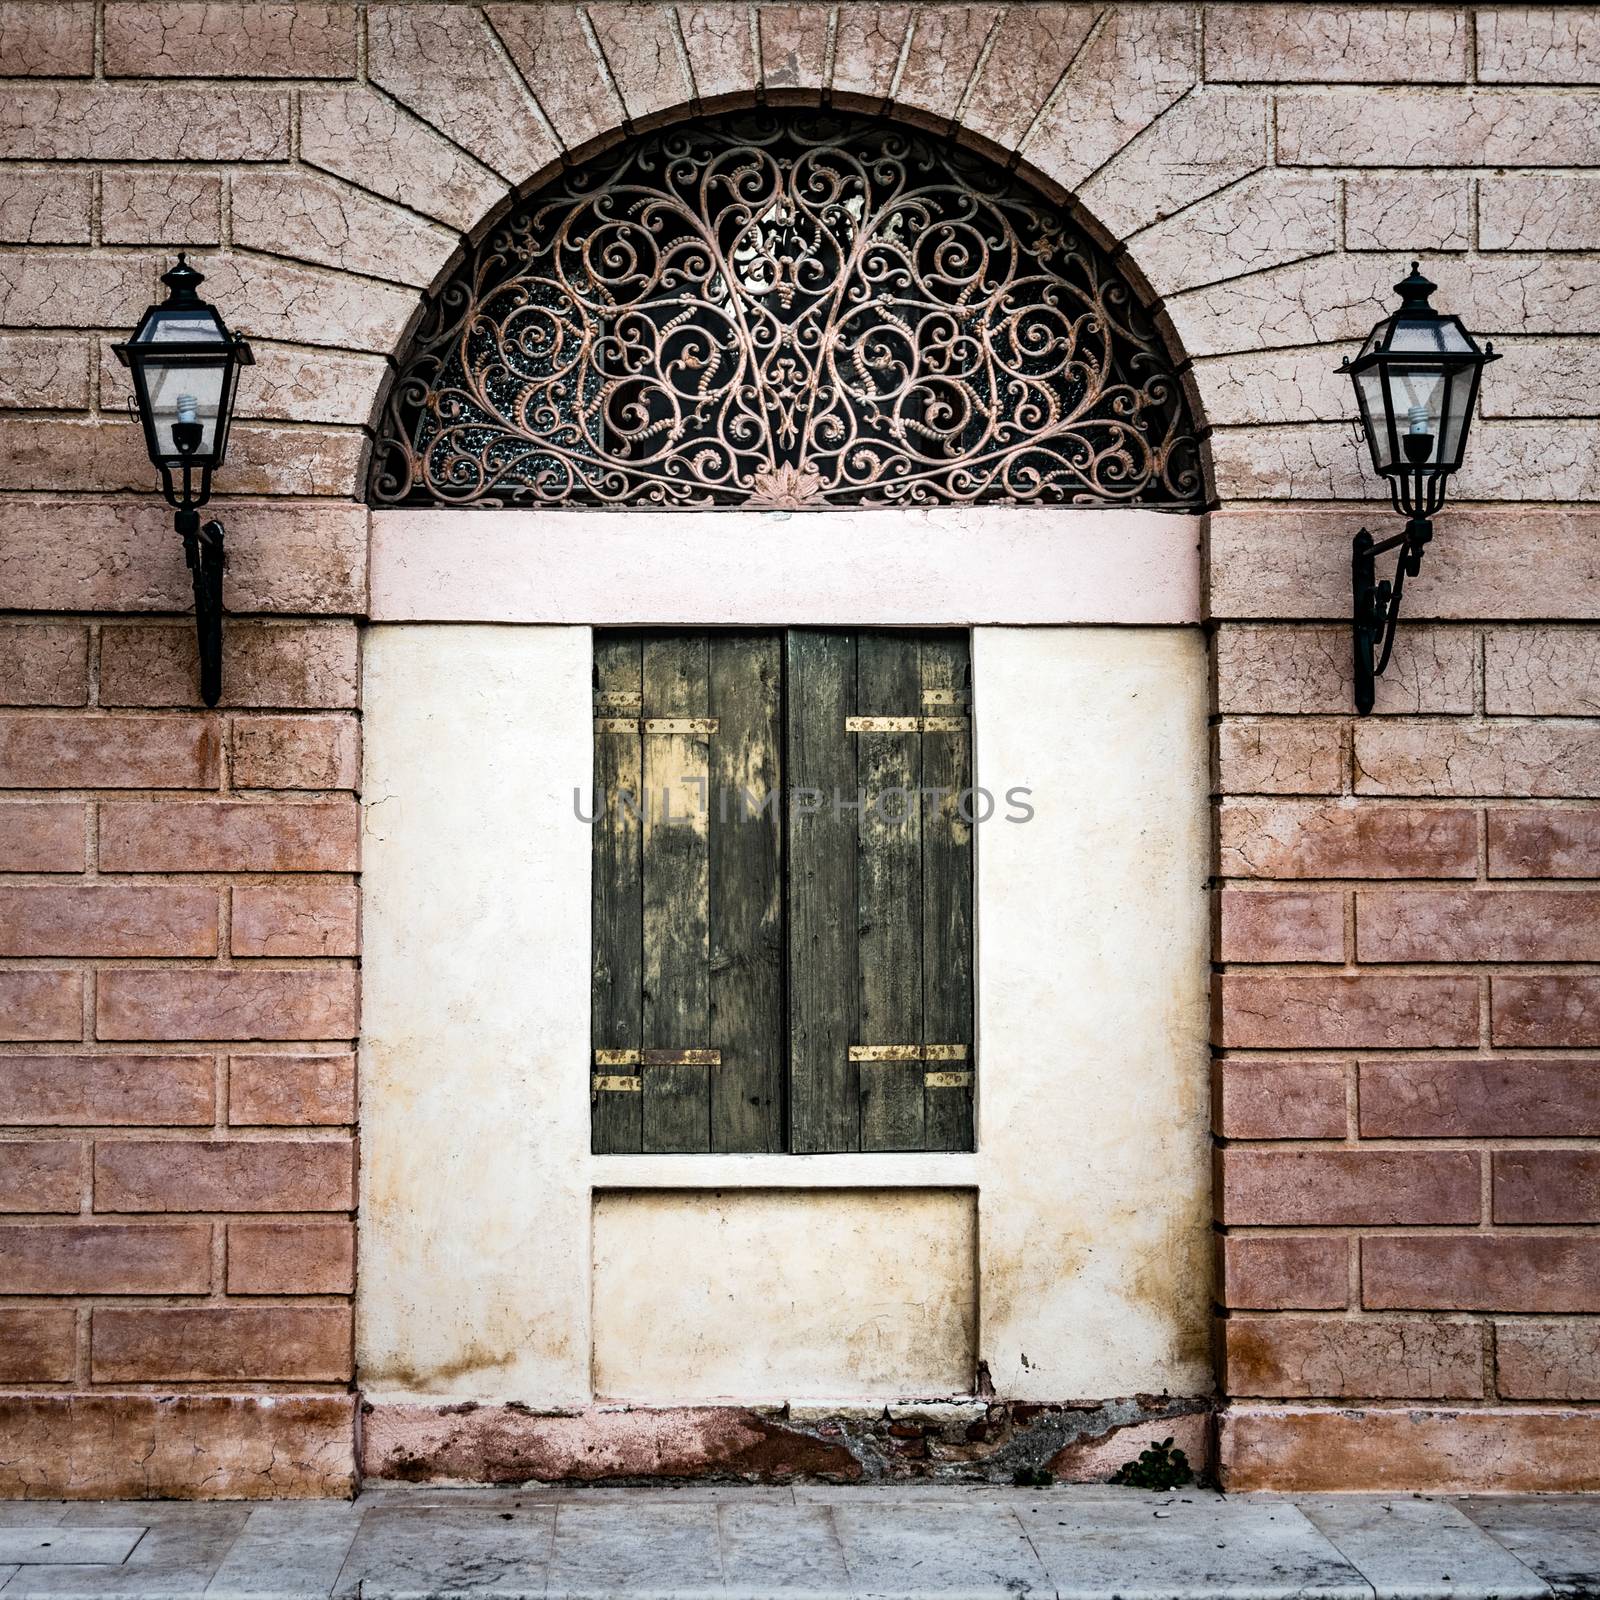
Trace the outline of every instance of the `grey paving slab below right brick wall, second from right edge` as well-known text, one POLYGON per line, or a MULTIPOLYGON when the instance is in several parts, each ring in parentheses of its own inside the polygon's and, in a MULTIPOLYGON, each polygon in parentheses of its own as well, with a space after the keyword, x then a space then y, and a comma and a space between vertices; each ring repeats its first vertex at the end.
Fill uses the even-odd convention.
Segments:
POLYGON ((1376 1600, 1544 1600, 1550 1586, 1445 1501, 1296 1494, 1294 1506, 1373 1586, 1376 1600))

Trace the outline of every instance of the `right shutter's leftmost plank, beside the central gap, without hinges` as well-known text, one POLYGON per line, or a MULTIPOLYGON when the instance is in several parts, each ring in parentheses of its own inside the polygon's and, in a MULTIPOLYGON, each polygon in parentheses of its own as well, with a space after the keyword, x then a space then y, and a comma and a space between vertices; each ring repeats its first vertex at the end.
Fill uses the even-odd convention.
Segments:
POLYGON ((856 795, 853 634, 792 629, 786 643, 789 734, 789 1147, 861 1149, 856 1042, 856 795), (814 790, 814 810, 798 803, 814 790))

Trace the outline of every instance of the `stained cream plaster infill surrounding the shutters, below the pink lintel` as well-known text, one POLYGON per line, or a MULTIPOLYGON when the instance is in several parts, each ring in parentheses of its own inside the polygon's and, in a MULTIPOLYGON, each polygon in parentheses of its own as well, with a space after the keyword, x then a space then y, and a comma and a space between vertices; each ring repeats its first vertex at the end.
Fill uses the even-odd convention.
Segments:
MULTIPOLYGON (((1203 642, 978 629, 973 662, 978 781, 1027 786, 1035 808, 979 829, 978 1152, 675 1166, 589 1155, 589 835, 571 810, 590 779, 589 630, 368 630, 368 1395, 894 1398, 965 1387, 973 1355, 1011 1398, 1211 1387, 1203 642), (941 1334, 928 1370, 896 1371, 902 1322, 875 1368, 850 1347, 882 1262, 827 1218, 842 1189, 901 1218, 910 1186, 976 1187, 978 1336, 941 1334), (709 1280, 669 1293, 661 1274, 739 1190, 763 1194, 739 1218, 795 1253, 787 1282, 822 1285, 814 1320, 797 1342, 792 1294, 726 1280, 726 1339, 691 1362, 709 1280), (613 1226, 621 1205, 651 1224, 613 1226), (619 1290, 616 1264, 653 1251, 661 1293, 619 1290)), ((960 1298, 944 1269, 923 1277, 960 1298)))

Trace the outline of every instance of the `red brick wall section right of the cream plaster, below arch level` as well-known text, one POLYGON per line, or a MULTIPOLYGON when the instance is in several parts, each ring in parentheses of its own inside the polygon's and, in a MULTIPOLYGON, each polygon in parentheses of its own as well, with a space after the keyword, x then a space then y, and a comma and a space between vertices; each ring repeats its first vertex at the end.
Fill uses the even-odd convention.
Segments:
POLYGON ((1274 571, 1350 518, 1213 520, 1264 573, 1214 648, 1219 1379, 1246 1486, 1594 1486, 1563 1411, 1600 1398, 1600 517, 1498 514, 1514 586, 1461 573, 1488 520, 1440 517, 1366 720, 1347 630, 1269 619, 1296 603, 1274 571), (1395 1435, 1392 1402, 1430 1414, 1395 1435))

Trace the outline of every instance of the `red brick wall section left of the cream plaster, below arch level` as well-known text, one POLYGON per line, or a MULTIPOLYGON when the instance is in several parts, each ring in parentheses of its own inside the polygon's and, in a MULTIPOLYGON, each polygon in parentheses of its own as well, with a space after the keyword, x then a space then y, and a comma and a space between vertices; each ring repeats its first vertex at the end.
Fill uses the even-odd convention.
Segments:
MULTIPOLYGON (((0 1494, 142 1493, 152 1450, 166 1493, 339 1491, 357 627, 230 616, 224 701, 203 710, 194 624, 131 614, 176 610, 165 518, 85 510, 56 515, 114 574, 99 603, 128 611, 70 614, 21 541, 5 563, 8 600, 45 614, 0 624, 0 1426, 37 1445, 8 1451, 0 1494), (194 1398, 157 1398, 174 1392, 194 1398)), ((221 510, 240 568, 291 522, 338 565, 346 514, 221 510)), ((355 611, 360 546, 346 554, 323 598, 355 611)), ((274 587, 283 546, 261 555, 274 587)), ((234 586, 235 608, 250 598, 234 586)))

